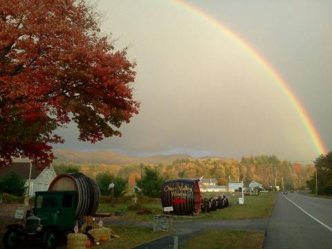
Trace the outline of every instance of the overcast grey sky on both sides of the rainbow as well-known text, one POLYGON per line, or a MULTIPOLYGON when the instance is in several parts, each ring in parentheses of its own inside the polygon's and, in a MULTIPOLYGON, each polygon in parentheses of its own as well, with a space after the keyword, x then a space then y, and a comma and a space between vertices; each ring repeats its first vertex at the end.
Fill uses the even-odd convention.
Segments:
MULTIPOLYGON (((332 1, 188 1, 221 21, 275 68, 332 149, 332 1)), ((230 37, 172 1, 100 0, 104 33, 136 59, 140 113, 122 138, 95 145, 62 129, 71 149, 123 154, 275 154, 313 160, 317 151, 273 78, 230 37)))

